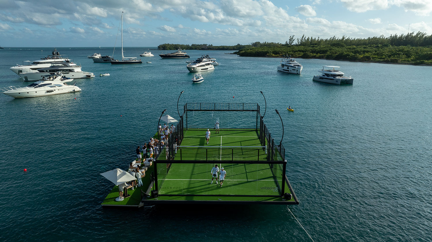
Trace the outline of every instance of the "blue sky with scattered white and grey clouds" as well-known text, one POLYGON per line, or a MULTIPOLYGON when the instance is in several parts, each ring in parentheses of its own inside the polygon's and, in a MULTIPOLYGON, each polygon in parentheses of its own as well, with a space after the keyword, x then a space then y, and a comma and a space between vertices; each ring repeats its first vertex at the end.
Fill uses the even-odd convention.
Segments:
POLYGON ((112 47, 121 12, 125 47, 432 34, 432 0, 0 0, 0 46, 112 47))

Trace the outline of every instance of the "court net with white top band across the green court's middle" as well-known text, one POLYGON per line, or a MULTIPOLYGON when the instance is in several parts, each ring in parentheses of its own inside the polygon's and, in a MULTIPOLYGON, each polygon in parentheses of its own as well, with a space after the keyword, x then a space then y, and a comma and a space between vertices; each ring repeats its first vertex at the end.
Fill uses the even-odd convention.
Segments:
POLYGON ((177 146, 176 158, 197 161, 265 161, 267 146, 177 146))

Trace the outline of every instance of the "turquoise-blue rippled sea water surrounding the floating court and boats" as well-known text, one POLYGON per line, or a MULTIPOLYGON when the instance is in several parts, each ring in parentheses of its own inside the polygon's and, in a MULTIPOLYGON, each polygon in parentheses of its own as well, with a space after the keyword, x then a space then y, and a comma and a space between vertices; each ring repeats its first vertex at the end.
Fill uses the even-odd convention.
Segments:
MULTIPOLYGON (((298 59, 302 75, 292 75, 276 71, 279 59, 189 50, 191 59, 209 54, 220 63, 192 84, 185 59, 161 59, 162 51, 141 57, 151 64, 111 66, 86 58, 111 55, 111 48, 57 50, 83 71, 111 76, 77 80, 79 93, 0 95, 1 240, 125 241, 143 234, 150 241, 311 241, 288 208, 316 242, 432 237, 429 66, 298 59), (322 65, 341 66, 354 85, 311 81, 322 65), (182 90, 179 106, 264 107, 262 90, 275 141, 282 127, 274 109, 283 118, 288 178, 300 204, 102 208, 113 184, 99 173, 126 168, 137 144, 156 132, 163 109, 178 117, 182 90)), ((51 51, 1 50, 0 87, 23 85, 9 67, 51 51)), ((144 51, 127 48, 125 56, 144 51)))

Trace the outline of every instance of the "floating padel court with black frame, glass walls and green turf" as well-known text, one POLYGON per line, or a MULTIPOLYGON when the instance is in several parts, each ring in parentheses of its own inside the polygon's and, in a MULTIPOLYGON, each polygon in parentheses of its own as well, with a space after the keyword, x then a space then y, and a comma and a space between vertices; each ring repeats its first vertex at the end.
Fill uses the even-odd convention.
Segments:
POLYGON ((186 103, 153 165, 143 205, 299 204, 285 148, 272 139, 257 103, 186 103), (226 171, 222 186, 219 172, 217 181, 211 173, 215 165, 226 171))

